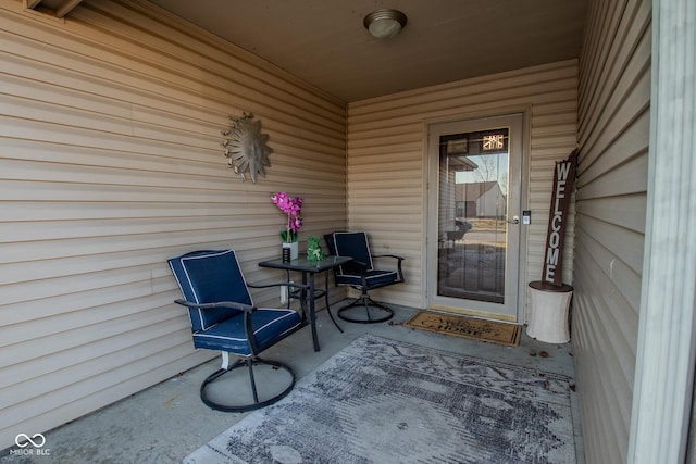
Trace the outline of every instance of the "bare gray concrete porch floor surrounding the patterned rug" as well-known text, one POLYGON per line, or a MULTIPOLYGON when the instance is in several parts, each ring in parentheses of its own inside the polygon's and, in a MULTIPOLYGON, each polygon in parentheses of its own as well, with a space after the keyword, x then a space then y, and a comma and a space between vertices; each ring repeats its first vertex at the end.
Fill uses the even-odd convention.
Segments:
MULTIPOLYGON (((340 303, 335 305, 340 306, 340 303)), ((518 348, 469 340, 403 327, 417 313, 394 306, 391 321, 351 324, 338 319, 344 334, 332 324, 326 311, 318 313, 321 351, 312 348, 309 327, 265 351, 264 359, 293 367, 300 379, 344 347, 369 333, 394 340, 447 350, 471 356, 563 374, 574 381, 570 343, 543 343, 525 334, 518 348), (544 356, 543 354, 547 354, 544 356)), ((334 310, 335 311, 335 310, 334 310)), ((177 463, 249 413, 212 411, 199 398, 202 380, 220 367, 215 358, 200 366, 125 398, 112 405, 47 431, 44 450, 49 455, 11 455, 3 450, 0 463, 177 463)), ((577 393, 570 391, 577 463, 584 463, 577 393)), ((321 443, 318 443, 321 446, 321 443)))

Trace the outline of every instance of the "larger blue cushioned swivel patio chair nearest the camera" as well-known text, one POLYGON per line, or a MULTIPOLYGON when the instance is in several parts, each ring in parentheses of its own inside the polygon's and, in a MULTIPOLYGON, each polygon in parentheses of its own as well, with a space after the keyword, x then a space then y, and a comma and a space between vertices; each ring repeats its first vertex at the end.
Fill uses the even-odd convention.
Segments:
MULTIPOLYGON (((290 392, 295 385, 293 369, 275 361, 265 361, 259 354, 304 325, 295 310, 268 309, 253 305, 234 250, 195 251, 169 260, 183 300, 176 303, 188 308, 194 346, 222 351, 222 367, 203 380, 200 398, 208 406, 228 412, 251 411, 272 404, 290 392), (237 360, 231 363, 229 356, 237 360), (228 391, 213 387, 223 374, 237 367, 247 367, 249 379, 237 385, 229 401, 228 391), (254 376, 254 372, 257 375, 254 376), (278 387, 279 386, 279 387, 278 387), (257 388, 260 387, 260 388, 257 388), (241 397, 241 398, 240 398, 241 397)), ((252 288, 289 286, 272 284, 252 288)))

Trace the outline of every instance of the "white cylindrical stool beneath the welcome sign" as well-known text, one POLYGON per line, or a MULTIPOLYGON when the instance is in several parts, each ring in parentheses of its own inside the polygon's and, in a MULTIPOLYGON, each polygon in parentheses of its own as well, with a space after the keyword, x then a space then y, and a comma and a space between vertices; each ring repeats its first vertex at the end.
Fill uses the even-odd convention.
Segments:
POLYGON ((546 343, 570 341, 568 311, 573 296, 573 287, 563 284, 555 286, 542 280, 531 281, 532 305, 526 334, 546 343))

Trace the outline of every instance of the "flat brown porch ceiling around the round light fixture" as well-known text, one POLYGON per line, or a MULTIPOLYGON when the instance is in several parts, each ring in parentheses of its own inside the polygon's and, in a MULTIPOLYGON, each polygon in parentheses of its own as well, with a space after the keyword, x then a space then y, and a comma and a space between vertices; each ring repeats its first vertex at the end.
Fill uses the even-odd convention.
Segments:
POLYGON ((580 55, 586 0, 150 0, 346 102, 580 55), (362 25, 401 10, 393 39, 362 25))

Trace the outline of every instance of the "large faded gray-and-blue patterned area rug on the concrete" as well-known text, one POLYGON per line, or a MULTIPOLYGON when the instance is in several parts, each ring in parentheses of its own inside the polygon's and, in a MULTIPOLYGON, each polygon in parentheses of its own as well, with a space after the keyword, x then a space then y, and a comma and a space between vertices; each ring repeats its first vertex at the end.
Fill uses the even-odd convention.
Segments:
POLYGON ((362 336, 183 463, 575 463, 569 378, 362 336))

